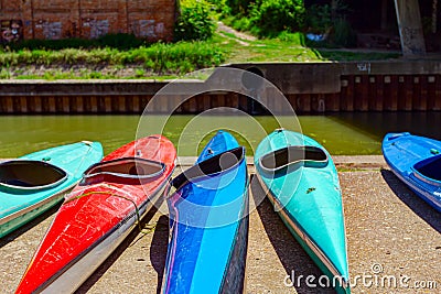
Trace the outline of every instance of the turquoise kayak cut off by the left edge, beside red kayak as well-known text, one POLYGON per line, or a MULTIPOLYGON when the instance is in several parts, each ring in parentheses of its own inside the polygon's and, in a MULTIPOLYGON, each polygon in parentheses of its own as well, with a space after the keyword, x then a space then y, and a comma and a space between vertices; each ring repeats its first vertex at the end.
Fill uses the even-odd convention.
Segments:
POLYGON ((84 141, 0 163, 0 237, 61 202, 101 159, 101 144, 84 141))

